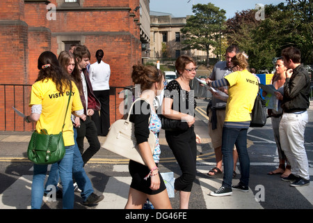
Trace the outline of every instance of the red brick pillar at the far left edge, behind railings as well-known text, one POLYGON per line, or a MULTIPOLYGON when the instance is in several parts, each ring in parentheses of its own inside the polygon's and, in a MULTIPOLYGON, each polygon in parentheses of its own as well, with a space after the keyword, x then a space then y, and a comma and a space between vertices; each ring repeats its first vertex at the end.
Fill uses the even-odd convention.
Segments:
MULTIPOLYGON (((28 79, 28 24, 24 21, 24 1, 1 1, 0 8, 0 84, 24 84, 28 79)), ((23 128, 22 118, 15 116, 12 109, 15 106, 24 110, 20 95, 23 95, 22 86, 0 86, 0 130, 23 128)))

